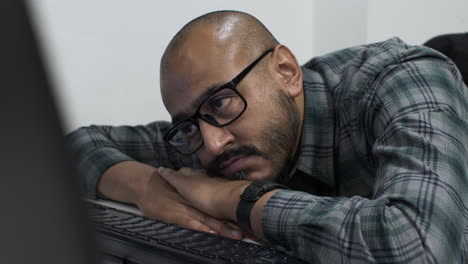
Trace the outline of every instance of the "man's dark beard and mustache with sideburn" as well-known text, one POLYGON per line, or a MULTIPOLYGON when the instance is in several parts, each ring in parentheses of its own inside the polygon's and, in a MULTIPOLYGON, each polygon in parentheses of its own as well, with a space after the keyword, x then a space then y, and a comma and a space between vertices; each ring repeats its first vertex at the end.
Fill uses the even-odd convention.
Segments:
POLYGON ((301 119, 294 101, 283 91, 275 91, 270 100, 278 113, 255 116, 258 126, 247 135, 255 140, 227 149, 208 164, 209 172, 231 179, 255 180, 275 180, 288 173, 286 166, 293 158, 301 119))

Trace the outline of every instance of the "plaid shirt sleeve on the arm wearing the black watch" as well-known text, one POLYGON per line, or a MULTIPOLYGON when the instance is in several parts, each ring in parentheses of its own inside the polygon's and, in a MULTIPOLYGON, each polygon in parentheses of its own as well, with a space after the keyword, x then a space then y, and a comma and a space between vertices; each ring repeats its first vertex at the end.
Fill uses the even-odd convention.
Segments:
POLYGON ((263 211, 266 238, 310 263, 467 263, 466 86, 434 58, 372 85, 372 197, 279 191, 263 211))

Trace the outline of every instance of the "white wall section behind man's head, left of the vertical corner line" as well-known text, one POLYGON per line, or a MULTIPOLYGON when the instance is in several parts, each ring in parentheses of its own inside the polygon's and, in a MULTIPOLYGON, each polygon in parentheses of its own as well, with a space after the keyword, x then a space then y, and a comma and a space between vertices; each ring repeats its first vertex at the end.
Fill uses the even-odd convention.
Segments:
POLYGON ((313 4, 308 0, 289 5, 267 0, 30 2, 67 130, 170 120, 159 95, 160 57, 185 23, 210 11, 253 14, 300 63, 313 53, 313 4))

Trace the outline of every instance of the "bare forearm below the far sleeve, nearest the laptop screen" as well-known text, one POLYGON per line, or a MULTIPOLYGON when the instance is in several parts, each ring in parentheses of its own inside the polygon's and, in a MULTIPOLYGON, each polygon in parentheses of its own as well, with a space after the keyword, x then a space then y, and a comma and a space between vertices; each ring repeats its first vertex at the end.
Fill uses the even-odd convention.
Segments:
POLYGON ((117 163, 101 176, 98 192, 112 200, 137 204, 155 170, 136 161, 117 163))

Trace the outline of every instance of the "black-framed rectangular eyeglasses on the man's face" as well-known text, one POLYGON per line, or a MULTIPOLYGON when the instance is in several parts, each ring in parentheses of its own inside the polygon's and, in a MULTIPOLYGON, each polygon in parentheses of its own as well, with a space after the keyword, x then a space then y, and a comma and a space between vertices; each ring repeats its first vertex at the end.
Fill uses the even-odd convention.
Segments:
POLYGON ((263 57, 272 51, 273 49, 265 51, 234 79, 214 90, 202 101, 194 115, 172 126, 164 135, 164 140, 178 152, 189 155, 203 145, 197 121, 199 118, 215 127, 224 127, 236 121, 247 109, 247 101, 236 86, 263 57))

